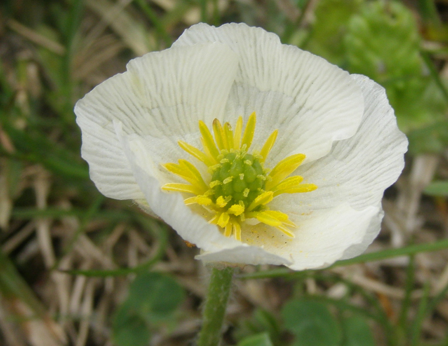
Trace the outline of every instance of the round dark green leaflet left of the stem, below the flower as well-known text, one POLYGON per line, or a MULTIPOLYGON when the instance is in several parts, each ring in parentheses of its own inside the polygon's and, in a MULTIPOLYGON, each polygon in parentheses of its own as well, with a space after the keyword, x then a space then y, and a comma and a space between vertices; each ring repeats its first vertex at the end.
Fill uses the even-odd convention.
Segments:
POLYGON ((171 317, 184 298, 184 290, 171 277, 148 272, 135 278, 129 287, 129 306, 148 321, 171 317))

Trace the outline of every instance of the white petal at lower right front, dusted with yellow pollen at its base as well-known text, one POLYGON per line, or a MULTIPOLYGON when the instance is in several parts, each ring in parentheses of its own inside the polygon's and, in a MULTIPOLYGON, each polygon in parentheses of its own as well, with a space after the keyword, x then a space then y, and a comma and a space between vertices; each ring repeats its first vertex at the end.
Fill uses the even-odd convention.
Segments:
POLYGON ((362 244, 370 221, 378 212, 375 207, 357 211, 345 203, 294 217, 295 238, 263 224, 241 237, 251 246, 263 247, 264 251, 291 261, 289 268, 323 268, 340 260, 350 247, 362 244))

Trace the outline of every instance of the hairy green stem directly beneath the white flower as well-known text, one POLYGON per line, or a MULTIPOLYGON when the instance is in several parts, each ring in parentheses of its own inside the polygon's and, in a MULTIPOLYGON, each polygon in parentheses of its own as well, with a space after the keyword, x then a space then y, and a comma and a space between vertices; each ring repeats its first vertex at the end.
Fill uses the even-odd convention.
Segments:
POLYGON ((220 343, 233 271, 234 268, 230 267, 213 268, 211 271, 207 298, 202 312, 202 329, 199 332, 197 346, 218 346, 220 343))

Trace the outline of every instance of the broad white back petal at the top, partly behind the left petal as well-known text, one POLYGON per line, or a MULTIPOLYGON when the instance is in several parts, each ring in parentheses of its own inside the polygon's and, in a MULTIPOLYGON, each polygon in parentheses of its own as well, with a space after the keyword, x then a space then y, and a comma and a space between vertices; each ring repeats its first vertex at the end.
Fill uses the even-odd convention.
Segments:
MULTIPOLYGON (((333 141, 356 132, 363 99, 347 72, 319 56, 281 44, 275 34, 246 24, 215 28, 200 23, 185 30, 173 46, 206 42, 225 43, 239 58, 236 86, 228 104, 230 115, 250 114, 264 97, 290 103, 292 111, 287 114, 265 112, 262 117, 260 112, 258 117, 259 124, 267 129, 274 130, 280 124, 295 134, 292 141, 289 134, 278 138, 280 148, 289 144, 287 154, 306 151, 308 161, 316 160, 330 150, 333 141)), ((268 107, 284 109, 279 102, 275 104, 268 107)))

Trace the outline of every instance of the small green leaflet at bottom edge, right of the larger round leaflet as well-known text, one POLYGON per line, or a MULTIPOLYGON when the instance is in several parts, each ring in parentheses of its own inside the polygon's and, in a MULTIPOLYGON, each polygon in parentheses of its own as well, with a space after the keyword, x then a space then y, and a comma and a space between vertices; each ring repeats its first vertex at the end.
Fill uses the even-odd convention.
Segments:
POLYGON ((342 321, 344 342, 342 346, 375 346, 369 325, 361 316, 351 316, 342 321))

